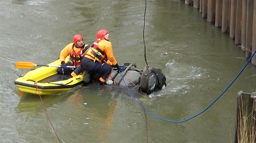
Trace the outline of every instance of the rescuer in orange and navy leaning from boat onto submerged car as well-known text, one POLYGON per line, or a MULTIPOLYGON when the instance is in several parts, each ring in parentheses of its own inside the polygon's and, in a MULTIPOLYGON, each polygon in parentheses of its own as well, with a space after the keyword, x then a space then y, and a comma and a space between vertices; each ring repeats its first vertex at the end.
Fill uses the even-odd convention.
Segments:
POLYGON ((111 65, 120 71, 120 67, 113 54, 112 44, 109 42, 109 34, 105 29, 101 29, 97 33, 97 40, 85 52, 81 65, 71 75, 74 77, 83 71, 100 74, 98 85, 102 85, 111 75, 111 65))

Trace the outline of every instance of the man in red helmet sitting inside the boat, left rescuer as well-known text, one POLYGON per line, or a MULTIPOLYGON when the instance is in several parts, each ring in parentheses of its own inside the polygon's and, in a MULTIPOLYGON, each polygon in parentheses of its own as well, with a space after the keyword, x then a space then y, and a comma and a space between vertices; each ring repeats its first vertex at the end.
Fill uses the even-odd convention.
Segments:
POLYGON ((82 55, 85 51, 91 47, 84 44, 84 40, 81 35, 77 34, 73 38, 74 43, 70 43, 63 50, 61 50, 60 61, 61 67, 58 68, 59 74, 70 74, 74 71, 74 68, 68 68, 67 66, 78 67, 82 60, 82 55), (65 63, 66 57, 69 55, 69 61, 65 63))

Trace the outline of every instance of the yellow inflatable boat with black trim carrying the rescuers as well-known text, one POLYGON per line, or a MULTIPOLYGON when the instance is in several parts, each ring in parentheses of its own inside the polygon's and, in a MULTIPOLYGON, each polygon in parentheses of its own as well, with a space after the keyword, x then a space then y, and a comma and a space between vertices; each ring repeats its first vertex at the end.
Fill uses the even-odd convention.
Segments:
MULTIPOLYGON (((68 57, 66 58, 67 61, 68 57)), ((71 76, 69 74, 57 74, 58 67, 54 67, 54 65, 60 66, 60 60, 58 59, 46 66, 36 65, 41 67, 26 72, 17 78, 14 84, 20 91, 26 93, 52 95, 70 90, 84 83, 82 74, 74 78, 70 78, 71 76)))

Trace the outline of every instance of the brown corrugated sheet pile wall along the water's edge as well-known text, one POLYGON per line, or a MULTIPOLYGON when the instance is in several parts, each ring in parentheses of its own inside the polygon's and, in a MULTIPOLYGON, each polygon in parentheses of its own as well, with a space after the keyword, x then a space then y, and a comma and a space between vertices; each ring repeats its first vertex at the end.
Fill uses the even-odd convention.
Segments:
MULTIPOLYGON (((256 0, 180 0, 199 9, 202 17, 228 33, 249 59, 256 50, 256 0)), ((252 58, 256 65, 256 55, 252 58)))

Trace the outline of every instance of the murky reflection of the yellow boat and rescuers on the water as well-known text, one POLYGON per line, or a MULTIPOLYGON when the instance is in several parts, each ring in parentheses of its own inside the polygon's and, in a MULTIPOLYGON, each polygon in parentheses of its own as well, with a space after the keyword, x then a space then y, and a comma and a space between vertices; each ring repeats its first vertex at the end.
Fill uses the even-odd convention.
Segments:
POLYGON ((130 94, 127 88, 120 88, 115 85, 108 85, 102 87, 94 85, 76 88, 55 95, 43 95, 41 96, 41 98, 39 95, 24 93, 20 90, 17 90, 16 94, 20 97, 20 103, 17 106, 16 112, 29 112, 31 114, 37 114, 44 111, 43 105, 46 109, 50 109, 54 104, 69 102, 73 99, 78 98, 78 96, 81 96, 82 98, 80 98, 80 100, 78 101, 79 103, 76 104, 85 105, 87 104, 87 102, 90 102, 90 106, 95 105, 95 107, 91 108, 95 108, 98 111, 104 111, 106 107, 103 107, 103 105, 108 105, 110 101, 106 100, 106 98, 110 99, 110 96, 118 96, 120 95, 120 93, 122 93, 124 95, 129 95, 130 97, 131 95, 135 96, 136 98, 146 97, 145 94, 139 92, 137 89, 130 88, 129 90, 132 94, 130 94), (113 95, 112 92, 117 94, 113 95), (41 99, 43 101, 43 104, 41 99))

